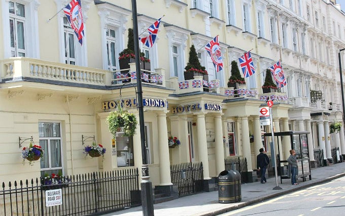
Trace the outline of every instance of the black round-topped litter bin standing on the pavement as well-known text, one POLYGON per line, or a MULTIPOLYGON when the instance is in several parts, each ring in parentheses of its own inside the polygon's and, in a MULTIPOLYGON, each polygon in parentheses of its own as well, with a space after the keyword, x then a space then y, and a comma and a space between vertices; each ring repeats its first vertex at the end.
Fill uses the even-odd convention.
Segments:
POLYGON ((222 171, 218 176, 219 203, 241 201, 241 175, 237 170, 222 171))

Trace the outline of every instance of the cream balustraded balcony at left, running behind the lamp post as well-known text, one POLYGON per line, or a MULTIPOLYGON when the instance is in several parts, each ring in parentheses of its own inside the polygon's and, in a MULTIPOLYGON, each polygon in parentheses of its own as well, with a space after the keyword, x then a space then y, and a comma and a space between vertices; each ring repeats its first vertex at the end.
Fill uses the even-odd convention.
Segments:
MULTIPOLYGON (((129 69, 125 70, 135 71, 135 63, 131 63, 128 67, 129 69)), ((111 85, 120 85, 124 79, 131 78, 130 75, 128 75, 130 74, 129 72, 123 73, 125 70, 108 71, 46 62, 26 57, 6 59, 2 61, 1 68, 1 81, 7 84, 16 83, 16 85, 18 85, 18 81, 26 81, 29 83, 40 82, 45 84, 106 90, 111 85)), ((151 74, 150 78, 147 79, 147 84, 165 87, 164 69, 159 68, 155 71, 143 70, 143 72, 151 74)), ((134 76, 130 81, 136 82, 134 76)))

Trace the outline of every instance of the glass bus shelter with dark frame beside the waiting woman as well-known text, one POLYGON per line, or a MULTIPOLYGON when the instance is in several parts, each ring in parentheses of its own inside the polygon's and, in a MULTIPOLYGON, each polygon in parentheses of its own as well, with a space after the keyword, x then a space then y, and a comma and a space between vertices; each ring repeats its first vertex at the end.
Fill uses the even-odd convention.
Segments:
MULTIPOLYGON (((309 176, 309 180, 312 180, 312 174, 310 172, 310 163, 309 163, 309 150, 308 150, 308 138, 307 134, 310 132, 306 131, 287 131, 287 132, 277 132, 274 133, 274 137, 277 137, 278 141, 278 154, 277 154, 277 170, 278 175, 281 177, 281 183, 283 183, 283 179, 290 179, 290 177, 287 175, 287 169, 288 169, 288 161, 287 160, 280 160, 280 143, 278 138, 286 137, 288 136, 290 138, 290 149, 294 149, 296 152, 296 158, 297 158, 297 165, 298 165, 298 175, 297 178, 302 178, 303 182, 305 181, 305 178, 309 176)), ((266 142, 271 143, 272 142, 272 134, 271 133, 265 133, 264 136, 266 137, 266 142)), ((282 143, 282 148, 284 148, 284 143, 282 143)))

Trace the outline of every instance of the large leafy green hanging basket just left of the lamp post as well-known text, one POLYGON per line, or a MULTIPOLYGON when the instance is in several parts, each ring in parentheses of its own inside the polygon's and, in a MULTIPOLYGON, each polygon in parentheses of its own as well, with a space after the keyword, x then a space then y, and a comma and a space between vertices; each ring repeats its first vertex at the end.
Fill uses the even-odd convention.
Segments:
POLYGON ((116 111, 109 113, 107 123, 112 135, 115 136, 117 132, 123 131, 125 137, 132 137, 135 133, 137 120, 134 113, 123 111, 119 105, 116 111))

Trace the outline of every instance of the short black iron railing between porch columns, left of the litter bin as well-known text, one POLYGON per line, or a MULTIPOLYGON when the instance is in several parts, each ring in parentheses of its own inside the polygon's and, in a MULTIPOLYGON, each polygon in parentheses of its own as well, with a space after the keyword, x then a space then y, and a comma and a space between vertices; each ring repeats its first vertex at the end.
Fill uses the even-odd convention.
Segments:
POLYGON ((171 183, 178 185, 180 197, 202 192, 202 171, 202 162, 170 165, 171 183))

